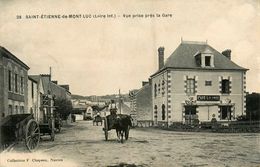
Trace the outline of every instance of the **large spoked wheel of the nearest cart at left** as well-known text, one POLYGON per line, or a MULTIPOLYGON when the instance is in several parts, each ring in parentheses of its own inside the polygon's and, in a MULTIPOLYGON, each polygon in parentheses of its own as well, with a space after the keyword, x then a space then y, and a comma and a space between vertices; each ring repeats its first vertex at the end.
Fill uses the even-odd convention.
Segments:
POLYGON ((25 145, 29 151, 33 151, 39 145, 40 128, 34 119, 28 121, 25 129, 25 145))

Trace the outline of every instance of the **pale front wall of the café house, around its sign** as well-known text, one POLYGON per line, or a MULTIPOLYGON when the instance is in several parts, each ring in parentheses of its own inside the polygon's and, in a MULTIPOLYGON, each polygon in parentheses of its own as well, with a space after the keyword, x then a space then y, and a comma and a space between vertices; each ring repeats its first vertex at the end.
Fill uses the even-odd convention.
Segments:
MULTIPOLYGON (((197 95, 219 95, 220 101, 230 99, 231 103, 235 104, 235 116, 241 115, 244 112, 244 90, 243 90, 243 72, 241 71, 171 71, 172 76, 172 102, 173 112, 171 113, 172 121, 182 120, 182 104, 189 98, 184 92, 184 79, 185 76, 194 77, 197 80, 197 93, 192 96, 197 100, 197 95), (231 77, 231 93, 229 95, 223 95, 219 92, 219 77, 230 76, 231 77), (212 86, 205 86, 205 80, 211 80, 212 86)), ((202 102, 197 101, 200 105, 205 106, 198 107, 199 120, 206 121, 211 120, 212 114, 218 115, 218 102, 202 102), (213 105, 215 104, 215 105, 213 105), (207 106, 210 106, 209 108, 207 106), (213 105, 213 106, 212 106, 213 105), (208 114, 209 112, 209 114, 208 114), (216 114, 217 113, 217 114, 216 114), (208 117, 209 115, 209 117, 208 117)), ((218 117, 216 117, 219 120, 218 117)))

